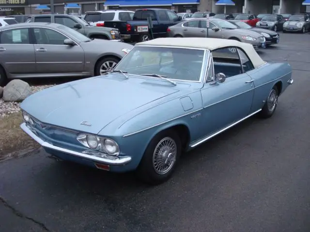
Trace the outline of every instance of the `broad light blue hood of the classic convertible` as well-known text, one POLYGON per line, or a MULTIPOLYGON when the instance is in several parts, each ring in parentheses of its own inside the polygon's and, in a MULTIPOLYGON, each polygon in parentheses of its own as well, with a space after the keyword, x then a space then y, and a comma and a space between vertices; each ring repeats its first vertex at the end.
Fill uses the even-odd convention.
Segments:
POLYGON ((43 123, 97 134, 116 118, 179 91, 173 87, 111 73, 50 87, 20 107, 43 123), (91 126, 81 125, 83 121, 91 126))

